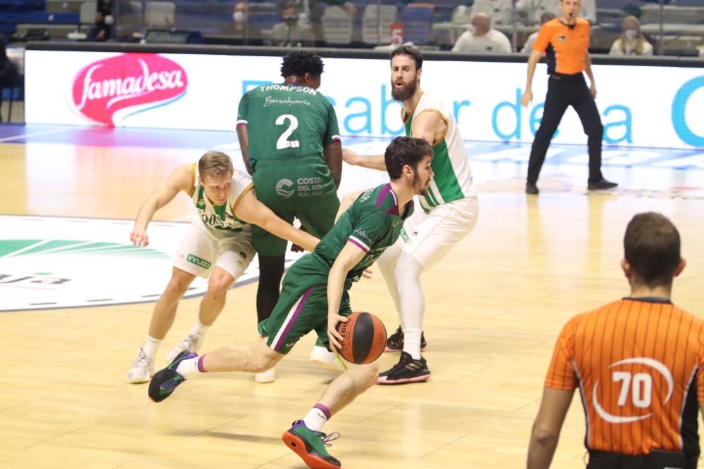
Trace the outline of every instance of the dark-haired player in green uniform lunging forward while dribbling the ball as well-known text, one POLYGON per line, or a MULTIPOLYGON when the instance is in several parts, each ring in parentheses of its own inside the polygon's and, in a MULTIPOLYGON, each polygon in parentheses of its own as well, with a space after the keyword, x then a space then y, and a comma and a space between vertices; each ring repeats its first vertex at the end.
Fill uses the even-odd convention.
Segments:
MULTIPOLYGON (((201 357, 182 352, 149 384, 149 397, 163 401, 187 378, 206 371, 258 372, 272 368, 311 330, 325 345, 339 347, 336 326, 351 314, 348 290, 401 233, 413 214, 413 196, 428 191, 432 148, 422 139, 398 137, 384 155, 391 182, 346 197, 349 205, 320 240, 315 252, 298 259, 284 278, 279 302, 259 325, 260 340, 249 347, 228 346, 201 357)), ((350 365, 330 383, 318 403, 284 432, 287 446, 311 468, 335 469, 340 462, 325 446, 335 439, 322 433, 329 418, 377 381, 377 365, 350 365)), ((339 436, 339 434, 338 434, 339 436)))

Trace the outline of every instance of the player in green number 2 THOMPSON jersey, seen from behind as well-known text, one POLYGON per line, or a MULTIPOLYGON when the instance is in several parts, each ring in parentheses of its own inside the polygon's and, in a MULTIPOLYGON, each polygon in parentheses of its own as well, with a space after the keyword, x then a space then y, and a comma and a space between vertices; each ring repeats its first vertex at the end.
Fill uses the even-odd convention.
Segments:
MULTIPOLYGON (((284 83, 248 91, 237 117, 242 158, 259 200, 289 223, 298 218, 303 229, 318 238, 334 224, 342 169, 337 117, 317 91, 322 69, 322 60, 314 53, 289 52, 281 66, 284 83)), ((252 227, 252 238, 259 255, 257 317, 261 322, 279 299, 287 243, 257 226, 252 227)), ((341 370, 320 340, 310 359, 341 370)), ((260 383, 274 379, 273 370, 255 375, 260 383)))

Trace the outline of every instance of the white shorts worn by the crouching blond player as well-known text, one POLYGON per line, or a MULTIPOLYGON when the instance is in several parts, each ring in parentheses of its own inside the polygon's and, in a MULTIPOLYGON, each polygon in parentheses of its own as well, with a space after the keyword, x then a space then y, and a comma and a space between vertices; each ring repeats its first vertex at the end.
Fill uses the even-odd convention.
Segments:
POLYGON ((210 230, 199 224, 202 225, 200 220, 189 225, 173 265, 203 278, 208 278, 213 267, 218 266, 237 280, 254 258, 252 234, 249 231, 209 233, 210 230))

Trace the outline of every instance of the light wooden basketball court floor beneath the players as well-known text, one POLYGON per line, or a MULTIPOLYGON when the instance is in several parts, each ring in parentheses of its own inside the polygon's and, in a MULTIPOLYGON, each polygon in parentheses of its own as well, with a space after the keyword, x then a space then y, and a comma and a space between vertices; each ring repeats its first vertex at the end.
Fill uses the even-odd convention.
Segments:
MULTIPOLYGON (((5 241, 19 237, 8 232, 16 221, 68 217, 76 221, 77 240, 95 219, 115 219, 111 231, 127 245, 139 205, 173 167, 197 160, 208 148, 225 150, 241 167, 234 134, 4 126, 0 136, 0 214, 10 216, 0 217, 5 241)), ((362 153, 385 143, 346 141, 362 153)), ((625 226, 636 212, 662 212, 679 227, 688 266, 675 283, 674 301, 702 314, 704 153, 605 148, 604 174, 620 186, 588 193, 586 148, 553 150, 539 181, 541 194, 532 197, 523 192, 529 146, 470 143, 479 222, 423 278, 424 355, 432 378, 372 387, 332 418, 326 430, 342 437, 330 451, 345 468, 524 466, 563 323, 628 293, 619 262, 625 226)), ((346 166, 342 191, 383 180, 382 173, 346 166)), ((188 200, 178 198, 156 219, 188 216, 188 200)), ((57 236, 41 226, 30 238, 57 236)), ((13 283, 18 277, 6 269, 17 265, 8 263, 17 256, 9 250, 0 256, 0 310, 18 295, 31 303, 44 284, 13 283)), ((163 257, 168 278, 170 262, 163 257)), ((33 259, 39 275, 42 257, 33 259)), ((116 276, 103 262, 84 269, 102 291, 120 290, 135 278, 149 281, 139 258, 132 259, 116 276)), ((375 274, 351 291, 353 309, 374 312, 391 333, 396 313, 375 274)), ((203 351, 255 340, 255 291, 256 283, 230 290, 203 351)), ((308 362, 313 337, 282 361, 275 383, 256 384, 246 373, 213 373, 154 404, 146 385, 129 385, 125 375, 144 342, 155 299, 0 312, 0 468, 305 467, 280 436, 334 378, 308 362)), ((159 368, 194 323, 199 301, 180 304, 159 368)), ((384 354, 379 364, 387 368, 396 359, 384 354)), ((575 396, 553 467, 583 467, 583 438, 575 396)))

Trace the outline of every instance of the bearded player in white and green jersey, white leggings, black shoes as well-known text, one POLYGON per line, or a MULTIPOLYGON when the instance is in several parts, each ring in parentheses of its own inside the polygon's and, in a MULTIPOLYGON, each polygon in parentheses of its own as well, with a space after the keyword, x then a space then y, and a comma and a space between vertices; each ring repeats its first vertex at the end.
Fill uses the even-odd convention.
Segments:
MULTIPOLYGON (((422 210, 406 221, 396 245, 379 258, 379 271, 401 319, 401 326, 386 342, 386 351, 401 350, 401 358, 379 375, 379 384, 384 385, 416 383, 430 377, 420 354, 425 348, 425 297, 420 275, 472 231, 479 214, 467 149, 453 110, 420 89, 422 65, 420 51, 413 47, 401 46, 391 53, 391 94, 403 103, 406 135, 432 144, 435 175, 428 193, 420 198, 422 210)), ((384 169, 380 157, 360 158, 347 149, 343 156, 352 165, 384 169)))

